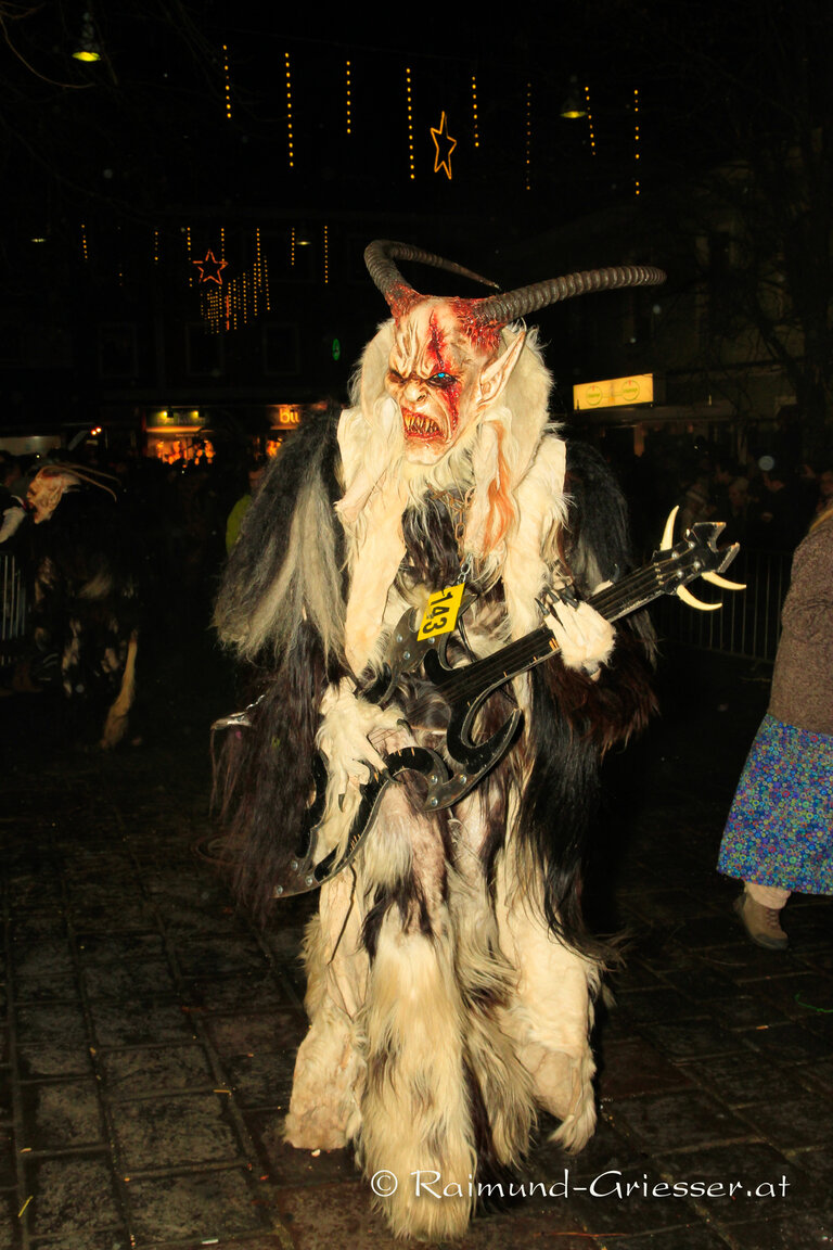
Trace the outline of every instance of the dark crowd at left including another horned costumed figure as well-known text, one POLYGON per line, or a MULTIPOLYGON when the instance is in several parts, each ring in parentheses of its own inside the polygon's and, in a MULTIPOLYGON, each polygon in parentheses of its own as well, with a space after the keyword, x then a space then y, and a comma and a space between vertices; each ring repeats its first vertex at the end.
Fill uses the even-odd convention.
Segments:
POLYGON ((257 472, 242 458, 0 452, 0 692, 60 691, 72 735, 139 741, 137 670, 160 645, 207 639, 229 520, 257 472))

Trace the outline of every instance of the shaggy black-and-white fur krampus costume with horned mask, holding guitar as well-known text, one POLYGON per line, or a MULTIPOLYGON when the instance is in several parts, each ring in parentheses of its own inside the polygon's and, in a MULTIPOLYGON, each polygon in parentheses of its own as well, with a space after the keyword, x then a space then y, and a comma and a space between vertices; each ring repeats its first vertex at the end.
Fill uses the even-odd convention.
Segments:
POLYGON ((433 811, 418 772, 383 789, 307 931, 311 1024, 286 1139, 352 1142, 368 1178, 385 1170, 395 1232, 440 1239, 463 1232, 478 1181, 523 1159, 537 1109, 561 1120, 555 1139, 569 1150, 593 1131, 602 959, 581 921, 582 840, 601 752, 651 705, 642 641, 629 626, 614 640, 578 602, 624 568, 621 496, 598 458, 571 454, 550 424, 551 379, 535 331, 516 322, 663 275, 601 270, 437 299, 410 288, 395 258, 485 281, 402 244, 367 249, 393 319, 365 350, 352 406, 311 414, 271 466, 216 625, 262 676, 227 752, 239 884, 261 906, 293 892, 316 755, 326 804, 310 862, 333 849, 340 862, 362 785, 405 748, 443 752, 448 710, 420 672, 373 701, 408 608, 465 581, 473 602, 452 665, 528 634, 542 612, 561 644, 486 704, 475 738, 513 709, 522 729, 476 789, 433 811), (541 608, 548 589, 572 602, 541 608), (420 1179, 445 1196, 420 1192, 420 1179))

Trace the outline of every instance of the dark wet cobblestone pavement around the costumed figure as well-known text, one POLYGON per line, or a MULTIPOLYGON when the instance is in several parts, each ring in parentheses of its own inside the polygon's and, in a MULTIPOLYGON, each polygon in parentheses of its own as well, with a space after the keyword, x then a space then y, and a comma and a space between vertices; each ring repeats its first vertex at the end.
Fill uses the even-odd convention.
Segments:
MULTIPOLYGON (((833 902, 791 901, 792 949, 769 954, 713 868, 767 672, 686 654, 663 672, 663 720, 611 764, 591 895, 629 932, 599 1130, 572 1159, 542 1132, 522 1180, 552 1196, 480 1218, 462 1250, 833 1239, 833 902)), ((112 758, 70 749, 45 696, 0 701, 0 1250, 395 1245, 346 1154, 281 1142, 308 902, 259 932, 192 854, 230 689, 210 654, 182 661, 145 746, 112 758)))

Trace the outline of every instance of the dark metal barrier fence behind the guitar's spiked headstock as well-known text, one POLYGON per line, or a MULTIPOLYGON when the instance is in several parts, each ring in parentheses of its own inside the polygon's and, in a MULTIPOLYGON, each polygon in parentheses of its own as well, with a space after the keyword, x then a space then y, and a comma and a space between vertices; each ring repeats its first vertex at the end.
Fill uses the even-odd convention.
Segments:
POLYGON ((792 559, 791 551, 741 551, 726 576, 747 589, 693 582, 689 589, 698 599, 714 602, 719 598, 723 606, 716 612, 694 611, 676 596, 658 600, 651 609, 658 636, 707 651, 774 660, 792 559))

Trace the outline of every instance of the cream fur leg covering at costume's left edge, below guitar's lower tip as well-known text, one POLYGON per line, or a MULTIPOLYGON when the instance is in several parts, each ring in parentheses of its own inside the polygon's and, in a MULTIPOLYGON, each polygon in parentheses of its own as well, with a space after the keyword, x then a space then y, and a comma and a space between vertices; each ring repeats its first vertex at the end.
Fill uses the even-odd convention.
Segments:
POLYGON ((352 876, 342 872, 321 890, 321 909, 307 929, 306 1010, 310 1031, 295 1060, 283 1136, 303 1150, 337 1150, 356 1136, 365 1065, 356 1016, 363 1001, 367 956, 361 949, 352 876))

